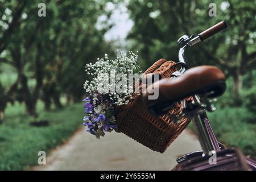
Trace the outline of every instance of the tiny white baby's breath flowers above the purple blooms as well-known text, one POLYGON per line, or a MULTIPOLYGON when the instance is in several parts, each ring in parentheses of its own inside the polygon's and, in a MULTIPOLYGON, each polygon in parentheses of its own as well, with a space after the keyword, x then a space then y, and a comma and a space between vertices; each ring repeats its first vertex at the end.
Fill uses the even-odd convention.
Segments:
MULTIPOLYGON (((118 80, 116 76, 119 73, 129 75, 135 73, 138 69, 138 55, 132 51, 122 52, 116 51, 115 59, 110 59, 105 53, 104 57, 97 58, 96 63, 86 64, 85 71, 88 75, 92 75, 92 81, 86 80, 84 89, 87 93, 99 92, 107 93, 110 100, 118 106, 128 104, 132 98, 133 86, 123 85, 122 92, 117 92, 116 86, 118 80)), ((122 80, 123 81, 123 80, 122 80)), ((129 78, 126 77, 126 83, 129 78)))

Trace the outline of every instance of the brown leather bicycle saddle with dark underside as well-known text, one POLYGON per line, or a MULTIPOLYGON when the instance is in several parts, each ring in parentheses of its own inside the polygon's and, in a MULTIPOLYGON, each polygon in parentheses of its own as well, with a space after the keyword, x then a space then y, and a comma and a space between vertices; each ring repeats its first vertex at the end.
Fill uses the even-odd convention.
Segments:
POLYGON ((209 94, 208 97, 218 97, 225 92, 225 75, 213 66, 199 66, 188 69, 183 75, 168 79, 164 78, 148 86, 147 93, 143 94, 143 102, 150 113, 162 115, 172 107, 175 102, 192 96, 193 94, 209 94), (159 97, 148 100, 149 93, 158 89, 159 97))

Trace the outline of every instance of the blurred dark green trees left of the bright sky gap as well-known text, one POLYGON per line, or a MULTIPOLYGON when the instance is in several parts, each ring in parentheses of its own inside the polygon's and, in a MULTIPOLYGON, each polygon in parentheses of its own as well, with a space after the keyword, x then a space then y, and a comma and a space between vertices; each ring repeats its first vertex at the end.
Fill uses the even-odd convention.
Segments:
POLYGON ((81 101, 84 68, 104 52, 111 52, 98 30, 98 16, 110 16, 105 1, 46 1, 47 16, 38 16, 40 1, 0 2, 0 118, 7 102, 24 102, 27 113, 36 116, 36 102, 61 107, 81 101), (7 80, 6 80, 7 79, 7 80))

